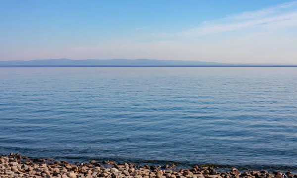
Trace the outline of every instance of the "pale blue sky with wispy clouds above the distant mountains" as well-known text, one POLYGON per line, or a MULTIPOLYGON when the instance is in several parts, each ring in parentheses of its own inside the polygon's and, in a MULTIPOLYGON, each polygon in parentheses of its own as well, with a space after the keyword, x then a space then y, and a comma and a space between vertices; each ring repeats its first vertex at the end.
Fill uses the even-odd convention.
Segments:
POLYGON ((0 0, 0 60, 297 63, 297 1, 0 0))

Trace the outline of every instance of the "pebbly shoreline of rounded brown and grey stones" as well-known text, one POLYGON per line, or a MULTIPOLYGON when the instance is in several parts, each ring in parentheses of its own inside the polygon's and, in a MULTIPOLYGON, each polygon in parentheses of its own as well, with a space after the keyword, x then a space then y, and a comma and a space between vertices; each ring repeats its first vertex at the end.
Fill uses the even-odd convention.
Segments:
POLYGON ((0 156, 0 178, 297 178, 297 174, 289 170, 238 170, 219 165, 181 168, 174 164, 160 166, 94 160, 68 163, 10 153, 0 156))

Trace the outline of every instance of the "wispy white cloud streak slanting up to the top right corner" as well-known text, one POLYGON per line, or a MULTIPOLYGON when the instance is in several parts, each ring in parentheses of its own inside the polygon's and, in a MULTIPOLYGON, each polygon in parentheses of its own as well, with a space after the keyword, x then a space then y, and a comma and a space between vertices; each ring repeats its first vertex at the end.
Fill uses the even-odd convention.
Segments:
POLYGON ((251 28, 261 29, 270 27, 270 31, 281 27, 297 26, 297 1, 279 4, 270 8, 256 11, 242 12, 224 18, 203 21, 197 28, 180 32, 185 36, 203 36, 214 33, 248 30, 251 28))

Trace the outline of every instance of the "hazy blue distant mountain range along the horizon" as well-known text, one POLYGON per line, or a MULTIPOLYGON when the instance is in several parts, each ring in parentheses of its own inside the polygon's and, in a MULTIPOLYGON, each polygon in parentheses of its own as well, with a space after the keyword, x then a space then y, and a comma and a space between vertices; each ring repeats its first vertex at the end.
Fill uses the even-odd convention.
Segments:
POLYGON ((218 63, 195 60, 155 60, 155 59, 42 59, 42 60, 11 60, 0 61, 0 66, 101 66, 101 65, 290 65, 290 64, 243 64, 218 63))

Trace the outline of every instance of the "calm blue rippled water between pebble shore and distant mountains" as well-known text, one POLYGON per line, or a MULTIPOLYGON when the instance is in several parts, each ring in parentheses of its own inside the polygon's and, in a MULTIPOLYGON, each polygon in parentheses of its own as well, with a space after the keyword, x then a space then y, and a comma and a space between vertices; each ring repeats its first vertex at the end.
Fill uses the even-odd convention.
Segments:
POLYGON ((0 68, 10 152, 297 166, 297 68, 0 68))

